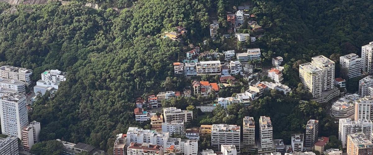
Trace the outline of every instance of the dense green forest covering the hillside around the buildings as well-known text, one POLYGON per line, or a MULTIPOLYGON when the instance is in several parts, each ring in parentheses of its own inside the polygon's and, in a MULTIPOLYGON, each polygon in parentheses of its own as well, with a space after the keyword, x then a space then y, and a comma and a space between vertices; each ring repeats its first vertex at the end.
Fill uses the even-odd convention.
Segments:
MULTIPOLYGON (((96 2, 106 5, 112 1, 96 2)), ((110 152, 115 134, 141 126, 132 114, 136 97, 189 84, 173 78, 172 62, 184 54, 183 47, 207 40, 204 50, 226 48, 223 37, 209 39, 207 26, 211 16, 218 17, 224 30, 225 11, 232 11, 240 2, 243 0, 138 0, 132 4, 123 0, 95 10, 84 7, 82 1, 66 5, 50 1, 20 4, 15 13, 8 13, 10 6, 1 3, 0 65, 32 69, 34 81, 46 69, 68 72, 56 97, 42 97, 34 104, 31 120, 41 122, 43 141, 84 142, 110 152), (179 25, 189 30, 184 44, 162 38, 163 31, 179 25), (175 85, 164 85, 166 77, 172 77, 175 85)), ((320 54, 338 61, 337 55, 360 54, 360 46, 372 41, 370 0, 254 0, 253 4, 252 12, 266 30, 255 46, 263 49, 264 61, 271 56, 284 58, 285 84, 295 89, 300 63, 320 54)), ((301 97, 309 100, 307 93, 294 92, 287 97, 270 92, 249 107, 234 105, 227 112, 245 109, 246 113, 226 118, 217 109, 214 117, 238 123, 246 114, 271 116, 275 138, 301 133, 308 119, 321 119, 322 134, 334 134, 328 132, 330 121, 322 114, 323 105, 300 103, 301 97)), ((57 146, 41 143, 38 147, 57 146)))

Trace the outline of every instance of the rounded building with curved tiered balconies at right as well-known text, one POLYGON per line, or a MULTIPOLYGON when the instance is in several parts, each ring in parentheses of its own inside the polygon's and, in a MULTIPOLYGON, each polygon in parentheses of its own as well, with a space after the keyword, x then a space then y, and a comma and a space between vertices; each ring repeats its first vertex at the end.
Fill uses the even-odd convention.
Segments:
POLYGON ((355 118, 355 101, 359 100, 358 94, 346 94, 332 104, 332 116, 335 119, 355 118))

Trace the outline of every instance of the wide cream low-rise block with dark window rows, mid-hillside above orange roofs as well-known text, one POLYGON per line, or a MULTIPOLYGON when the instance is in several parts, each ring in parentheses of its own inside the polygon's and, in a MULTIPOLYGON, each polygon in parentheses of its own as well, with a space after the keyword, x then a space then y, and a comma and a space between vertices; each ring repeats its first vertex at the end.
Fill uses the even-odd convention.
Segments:
POLYGON ((197 75, 221 75, 220 61, 201 61, 195 63, 197 75))

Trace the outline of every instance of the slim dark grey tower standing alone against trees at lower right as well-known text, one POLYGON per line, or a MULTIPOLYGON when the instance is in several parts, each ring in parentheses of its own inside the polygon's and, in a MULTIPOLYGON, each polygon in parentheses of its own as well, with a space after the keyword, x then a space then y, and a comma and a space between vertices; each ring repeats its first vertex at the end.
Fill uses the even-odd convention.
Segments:
POLYGON ((319 121, 310 119, 305 126, 304 147, 312 148, 319 137, 319 121))

